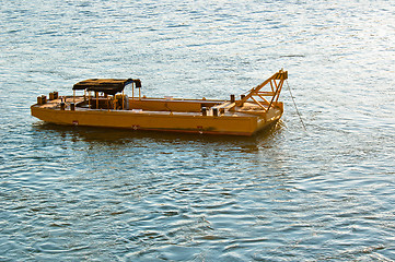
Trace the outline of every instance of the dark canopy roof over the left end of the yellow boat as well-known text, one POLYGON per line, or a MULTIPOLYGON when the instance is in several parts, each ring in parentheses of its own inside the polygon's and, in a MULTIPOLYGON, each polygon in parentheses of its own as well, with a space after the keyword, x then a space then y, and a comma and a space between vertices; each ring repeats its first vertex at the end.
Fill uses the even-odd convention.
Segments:
POLYGON ((136 83, 136 87, 141 87, 140 80, 132 79, 90 79, 78 82, 72 87, 73 90, 86 90, 94 92, 103 92, 108 95, 115 95, 123 92, 125 86, 136 83))

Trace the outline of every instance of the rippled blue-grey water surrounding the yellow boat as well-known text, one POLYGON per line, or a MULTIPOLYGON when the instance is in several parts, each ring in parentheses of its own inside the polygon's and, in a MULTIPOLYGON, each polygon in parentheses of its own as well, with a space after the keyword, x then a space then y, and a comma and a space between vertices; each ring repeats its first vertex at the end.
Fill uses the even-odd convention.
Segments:
POLYGON ((0 1, 0 261, 394 261, 393 1, 0 1), (254 138, 46 124, 90 78, 228 98, 279 69, 254 138))

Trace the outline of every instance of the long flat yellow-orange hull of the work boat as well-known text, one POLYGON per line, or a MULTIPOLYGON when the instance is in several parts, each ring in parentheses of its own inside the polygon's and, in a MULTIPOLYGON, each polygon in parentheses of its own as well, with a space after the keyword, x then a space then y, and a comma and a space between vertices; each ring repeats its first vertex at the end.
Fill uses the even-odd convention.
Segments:
POLYGON ((231 135, 252 135, 277 122, 282 115, 279 108, 272 108, 263 115, 202 116, 201 112, 81 108, 61 110, 39 105, 33 105, 31 111, 32 116, 56 124, 231 135))

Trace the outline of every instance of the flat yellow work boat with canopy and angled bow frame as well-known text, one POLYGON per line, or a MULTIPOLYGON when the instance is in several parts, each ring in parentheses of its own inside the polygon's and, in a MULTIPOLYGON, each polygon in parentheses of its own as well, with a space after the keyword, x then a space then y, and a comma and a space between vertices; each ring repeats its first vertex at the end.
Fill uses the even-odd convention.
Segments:
MULTIPOLYGON (((138 79, 90 79, 73 85, 72 96, 58 92, 37 97, 32 116, 56 124, 125 128, 207 134, 253 135, 282 116, 278 98, 288 72, 280 70, 247 94, 229 100, 141 96, 138 79), (267 91, 262 91, 263 87, 267 91), (131 94, 126 94, 130 87, 131 94), (75 95, 83 92, 83 95, 75 95)), ((130 91, 129 91, 130 92, 130 91)))

